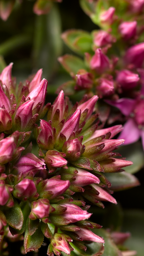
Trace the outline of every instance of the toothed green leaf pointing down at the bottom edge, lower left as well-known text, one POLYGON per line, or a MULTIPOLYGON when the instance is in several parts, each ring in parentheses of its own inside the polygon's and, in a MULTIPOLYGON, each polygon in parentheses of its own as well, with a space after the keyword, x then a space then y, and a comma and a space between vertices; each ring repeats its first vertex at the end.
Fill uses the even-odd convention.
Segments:
POLYGON ((40 225, 38 226, 37 230, 32 236, 30 236, 28 230, 29 230, 29 218, 27 218, 26 227, 25 227, 25 237, 24 237, 25 253, 39 249, 43 243, 43 233, 40 228, 40 225))

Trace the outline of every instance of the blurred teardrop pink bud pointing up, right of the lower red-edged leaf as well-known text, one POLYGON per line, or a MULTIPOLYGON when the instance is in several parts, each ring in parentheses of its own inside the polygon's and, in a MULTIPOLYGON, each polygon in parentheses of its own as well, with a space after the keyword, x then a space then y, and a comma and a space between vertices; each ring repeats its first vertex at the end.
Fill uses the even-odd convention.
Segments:
POLYGON ((109 59, 98 48, 90 61, 90 68, 96 72, 103 73, 110 67, 109 59))

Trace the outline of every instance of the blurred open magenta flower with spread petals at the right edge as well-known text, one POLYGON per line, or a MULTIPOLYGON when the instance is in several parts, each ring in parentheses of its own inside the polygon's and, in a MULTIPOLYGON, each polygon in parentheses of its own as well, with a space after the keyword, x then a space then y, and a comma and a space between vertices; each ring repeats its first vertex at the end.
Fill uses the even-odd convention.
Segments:
POLYGON ((119 139, 125 139, 124 144, 136 142, 140 137, 144 148, 144 99, 122 98, 116 101, 107 100, 110 105, 119 108, 127 116, 127 122, 119 139))

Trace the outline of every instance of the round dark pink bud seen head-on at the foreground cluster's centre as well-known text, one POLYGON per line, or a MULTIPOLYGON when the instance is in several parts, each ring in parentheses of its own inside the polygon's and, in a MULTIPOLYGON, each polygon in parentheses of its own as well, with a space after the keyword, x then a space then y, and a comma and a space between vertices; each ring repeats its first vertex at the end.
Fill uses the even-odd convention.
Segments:
POLYGON ((79 159, 84 151, 85 145, 82 145, 82 143, 78 139, 67 140, 62 146, 62 152, 66 154, 66 157, 68 159, 71 159, 73 161, 79 159))

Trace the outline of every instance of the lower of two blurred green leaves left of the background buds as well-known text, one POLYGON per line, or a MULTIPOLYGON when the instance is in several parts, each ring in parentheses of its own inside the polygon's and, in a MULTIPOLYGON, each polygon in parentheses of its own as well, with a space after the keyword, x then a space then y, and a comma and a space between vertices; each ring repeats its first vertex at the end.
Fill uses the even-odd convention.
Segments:
POLYGON ((71 76, 76 75, 80 69, 86 69, 84 61, 73 55, 66 54, 58 60, 71 76))

